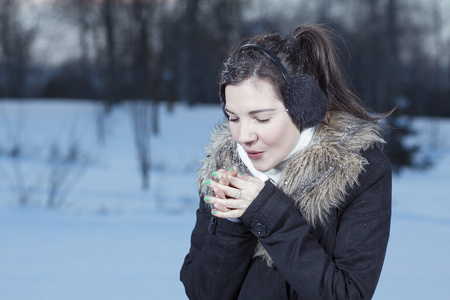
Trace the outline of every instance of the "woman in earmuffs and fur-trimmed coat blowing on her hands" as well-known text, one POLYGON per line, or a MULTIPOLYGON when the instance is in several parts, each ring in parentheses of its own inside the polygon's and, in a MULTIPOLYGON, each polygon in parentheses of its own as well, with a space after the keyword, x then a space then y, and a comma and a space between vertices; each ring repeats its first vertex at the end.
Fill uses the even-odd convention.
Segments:
POLYGON ((391 164, 329 31, 257 36, 225 62, 181 280, 190 299, 370 299, 391 164))

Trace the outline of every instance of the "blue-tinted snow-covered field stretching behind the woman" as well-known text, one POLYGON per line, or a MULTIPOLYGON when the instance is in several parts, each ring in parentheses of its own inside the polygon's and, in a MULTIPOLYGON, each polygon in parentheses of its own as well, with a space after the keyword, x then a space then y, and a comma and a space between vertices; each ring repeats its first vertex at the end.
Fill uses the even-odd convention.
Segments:
MULTIPOLYGON (((130 111, 123 104, 100 118, 89 102, 0 102, 1 300, 186 299, 179 269, 198 203, 195 172, 223 115, 217 106, 161 106, 145 191, 130 111), (55 172, 49 158, 70 149, 78 160, 55 172), (55 174, 66 180, 48 208, 55 174)), ((374 299, 450 299, 450 120, 414 127, 435 164, 394 176, 374 299)))

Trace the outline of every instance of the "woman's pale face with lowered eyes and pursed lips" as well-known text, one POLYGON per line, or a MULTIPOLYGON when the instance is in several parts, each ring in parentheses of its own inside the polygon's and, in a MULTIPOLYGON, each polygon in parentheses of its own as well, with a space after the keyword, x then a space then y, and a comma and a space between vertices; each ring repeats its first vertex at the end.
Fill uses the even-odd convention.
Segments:
POLYGON ((250 78, 227 85, 225 99, 233 139, 245 149, 256 170, 277 166, 297 145, 300 130, 270 81, 250 78))

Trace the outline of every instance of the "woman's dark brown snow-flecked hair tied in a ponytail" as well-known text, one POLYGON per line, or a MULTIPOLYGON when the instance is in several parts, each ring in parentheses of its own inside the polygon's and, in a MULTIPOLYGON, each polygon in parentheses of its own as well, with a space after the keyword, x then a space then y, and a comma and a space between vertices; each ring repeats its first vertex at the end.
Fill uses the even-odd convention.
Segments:
POLYGON ((275 64, 259 51, 241 48, 243 44, 257 44, 279 57, 292 76, 307 74, 314 78, 327 98, 327 110, 345 111, 359 118, 376 121, 353 93, 345 80, 337 59, 335 39, 338 35, 323 25, 302 25, 290 36, 278 33, 263 34, 239 43, 224 63, 220 76, 220 98, 225 105, 225 87, 251 78, 270 80, 281 95, 286 82, 275 64))

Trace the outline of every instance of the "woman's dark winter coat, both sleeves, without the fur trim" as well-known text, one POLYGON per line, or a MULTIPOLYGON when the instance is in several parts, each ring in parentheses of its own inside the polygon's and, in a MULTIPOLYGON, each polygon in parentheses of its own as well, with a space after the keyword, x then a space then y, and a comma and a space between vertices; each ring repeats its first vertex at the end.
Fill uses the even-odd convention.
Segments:
POLYGON ((267 181, 240 218, 212 217, 200 200, 181 269, 189 299, 370 299, 381 273, 391 216, 391 164, 378 148, 327 224, 312 227, 267 181), (274 266, 254 257, 257 241, 274 266))

